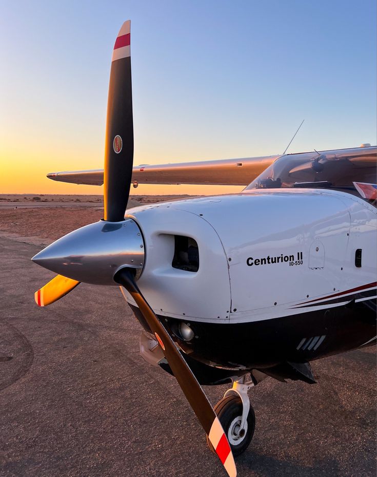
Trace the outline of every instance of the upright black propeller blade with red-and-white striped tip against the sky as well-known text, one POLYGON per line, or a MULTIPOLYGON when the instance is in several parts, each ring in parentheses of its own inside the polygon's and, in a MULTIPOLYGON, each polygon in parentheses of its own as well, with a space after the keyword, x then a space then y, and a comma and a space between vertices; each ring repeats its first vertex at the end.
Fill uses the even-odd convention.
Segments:
POLYGON ((133 164, 130 26, 122 25, 111 59, 107 102, 104 220, 124 220, 130 193, 133 164))

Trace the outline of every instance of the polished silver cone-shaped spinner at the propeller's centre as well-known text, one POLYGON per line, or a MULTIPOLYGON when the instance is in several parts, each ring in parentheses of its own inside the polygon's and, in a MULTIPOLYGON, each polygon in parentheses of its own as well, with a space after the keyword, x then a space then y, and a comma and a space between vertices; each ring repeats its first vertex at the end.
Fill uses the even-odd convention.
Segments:
POLYGON ((132 219, 100 220, 65 235, 37 253, 33 262, 84 283, 117 285, 115 273, 127 266, 138 278, 144 266, 144 241, 132 219))

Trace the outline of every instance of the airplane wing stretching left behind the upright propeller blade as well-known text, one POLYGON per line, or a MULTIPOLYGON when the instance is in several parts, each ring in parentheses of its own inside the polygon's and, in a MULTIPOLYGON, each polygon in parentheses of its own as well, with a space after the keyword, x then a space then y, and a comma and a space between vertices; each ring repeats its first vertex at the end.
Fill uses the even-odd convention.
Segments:
MULTIPOLYGON (((139 184, 248 185, 279 157, 263 156, 217 161, 134 166, 132 181, 139 184)), ((47 174, 49 179, 73 184, 102 185, 104 170, 73 170, 47 174)))

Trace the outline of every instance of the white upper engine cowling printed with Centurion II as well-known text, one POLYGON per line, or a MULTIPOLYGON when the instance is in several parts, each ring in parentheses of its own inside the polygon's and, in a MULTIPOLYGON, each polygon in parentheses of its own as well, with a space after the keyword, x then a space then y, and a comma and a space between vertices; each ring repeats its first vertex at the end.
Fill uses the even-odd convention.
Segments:
POLYGON ((145 242, 138 285, 161 316, 215 323, 283 317, 303 313, 308 302, 319 310, 337 294, 346 301, 347 291, 376 281, 376 208, 346 193, 248 190, 136 207, 127 217, 145 242), (173 268, 174 235, 197 242, 197 272, 173 268))

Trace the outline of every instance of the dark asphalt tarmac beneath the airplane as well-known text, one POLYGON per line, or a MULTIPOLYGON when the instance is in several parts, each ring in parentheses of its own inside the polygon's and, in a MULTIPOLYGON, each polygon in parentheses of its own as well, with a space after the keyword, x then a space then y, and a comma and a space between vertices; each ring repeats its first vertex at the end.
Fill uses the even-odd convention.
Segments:
MULTIPOLYGON (((225 477, 175 379, 140 357, 119 289, 81 284, 38 308, 53 276, 38 250, 0 238, 0 476, 225 477)), ((356 350, 314 362, 318 384, 252 389, 239 477, 374 477, 375 365, 374 347, 356 350)))

